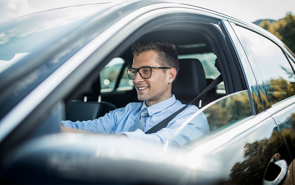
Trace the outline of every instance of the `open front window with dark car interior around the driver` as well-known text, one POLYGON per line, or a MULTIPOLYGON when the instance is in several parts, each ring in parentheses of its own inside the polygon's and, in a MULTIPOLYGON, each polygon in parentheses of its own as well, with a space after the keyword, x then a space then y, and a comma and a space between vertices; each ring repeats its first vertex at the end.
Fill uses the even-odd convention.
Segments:
MULTIPOLYGON (((216 19, 205 19, 194 15, 183 15, 182 17, 179 15, 177 18, 171 16, 169 22, 167 22, 166 17, 165 19, 159 17, 136 30, 105 59, 108 61, 104 63, 108 64, 100 70, 101 101, 114 104, 117 108, 124 107, 132 101, 138 101, 132 81, 127 77, 125 69, 132 66, 131 44, 136 41, 148 40, 174 43, 180 60, 198 59, 202 63, 205 72, 205 87, 218 77, 220 72, 222 73, 224 82, 207 92, 206 96, 196 100, 193 104, 197 107, 202 108, 227 94, 246 90, 243 81, 244 77, 239 72, 239 64, 235 56, 229 54, 230 45, 224 39, 222 28, 220 26, 218 28, 214 24, 218 25, 220 23, 216 19), (195 21, 187 20, 192 18, 195 21), (216 66, 220 66, 220 69, 217 69, 216 66)), ((180 73, 185 73, 186 70, 180 68, 180 73)), ((98 76, 93 78, 92 81, 95 82, 97 79, 98 76)), ((191 81, 192 79, 187 78, 186 80, 191 81)), ((89 81, 87 83, 89 84, 89 81)), ((93 83, 88 87, 93 87, 93 83)), ((181 95, 184 97, 183 100, 180 95, 175 94, 175 96, 183 104, 187 104, 197 96, 197 94, 190 94, 189 85, 181 90, 183 91, 181 95)), ((83 93, 79 95, 81 100, 87 95, 87 93, 83 93)), ((89 97, 88 94, 87 97, 87 101, 97 101, 98 99, 97 95, 89 97)))

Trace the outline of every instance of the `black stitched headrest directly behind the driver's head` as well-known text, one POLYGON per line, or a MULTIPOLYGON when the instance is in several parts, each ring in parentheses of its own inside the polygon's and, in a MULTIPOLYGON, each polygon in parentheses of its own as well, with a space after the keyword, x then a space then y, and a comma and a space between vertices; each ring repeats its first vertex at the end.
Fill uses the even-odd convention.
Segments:
MULTIPOLYGON (((172 84, 172 94, 176 99, 187 103, 194 100, 206 87, 202 63, 198 59, 179 59, 179 72, 172 84)), ((206 93, 201 96, 201 99, 205 98, 206 93)))

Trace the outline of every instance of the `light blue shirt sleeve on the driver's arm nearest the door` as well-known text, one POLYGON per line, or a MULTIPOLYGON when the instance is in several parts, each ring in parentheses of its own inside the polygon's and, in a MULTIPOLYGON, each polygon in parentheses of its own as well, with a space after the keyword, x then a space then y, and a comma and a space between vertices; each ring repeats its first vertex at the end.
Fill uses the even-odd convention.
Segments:
POLYGON ((167 127, 162 128, 161 130, 153 134, 145 134, 140 129, 137 129, 134 132, 122 132, 121 134, 125 134, 130 139, 141 139, 145 141, 162 143, 166 143, 167 140, 169 140, 169 142, 173 145, 184 145, 203 136, 204 134, 209 133, 208 121, 203 112, 201 112, 190 123, 188 123, 174 138, 174 134, 179 129, 179 127, 196 111, 198 110, 195 108, 184 110, 174 119, 172 119, 168 123, 167 127))

